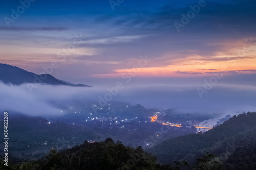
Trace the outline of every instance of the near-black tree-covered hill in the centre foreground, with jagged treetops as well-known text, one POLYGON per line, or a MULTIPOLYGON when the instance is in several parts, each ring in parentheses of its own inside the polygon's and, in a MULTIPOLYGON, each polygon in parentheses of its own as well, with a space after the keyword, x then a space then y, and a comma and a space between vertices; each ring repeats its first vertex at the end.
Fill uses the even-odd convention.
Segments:
MULTIPOLYGON (((1 161, 2 163, 3 161, 1 161)), ((44 170, 114 170, 114 169, 172 169, 168 165, 160 165, 156 158, 146 153, 141 147, 136 149, 125 147, 122 142, 107 138, 102 142, 83 144, 69 150, 52 149, 50 154, 37 161, 9 164, 0 163, 0 169, 44 169, 44 170)))

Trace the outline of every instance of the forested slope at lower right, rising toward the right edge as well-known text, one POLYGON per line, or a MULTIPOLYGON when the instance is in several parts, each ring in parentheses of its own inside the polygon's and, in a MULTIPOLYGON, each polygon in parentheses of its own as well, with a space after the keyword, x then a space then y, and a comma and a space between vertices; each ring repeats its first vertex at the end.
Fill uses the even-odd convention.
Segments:
POLYGON ((256 112, 235 115, 203 134, 167 139, 150 152, 168 164, 183 159, 193 164, 208 152, 225 169, 256 169, 256 112))

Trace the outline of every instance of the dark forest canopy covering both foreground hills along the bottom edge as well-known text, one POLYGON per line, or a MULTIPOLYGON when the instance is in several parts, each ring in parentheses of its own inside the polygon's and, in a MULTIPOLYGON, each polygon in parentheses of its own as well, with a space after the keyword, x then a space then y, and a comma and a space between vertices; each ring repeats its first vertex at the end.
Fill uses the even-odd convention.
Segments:
POLYGON ((239 114, 205 133, 170 138, 147 151, 140 146, 126 147, 111 138, 101 142, 86 140, 68 150, 52 148, 46 157, 34 161, 9 162, 9 166, 4 166, 2 160, 0 167, 46 170, 255 169, 255 121, 256 112, 239 114))

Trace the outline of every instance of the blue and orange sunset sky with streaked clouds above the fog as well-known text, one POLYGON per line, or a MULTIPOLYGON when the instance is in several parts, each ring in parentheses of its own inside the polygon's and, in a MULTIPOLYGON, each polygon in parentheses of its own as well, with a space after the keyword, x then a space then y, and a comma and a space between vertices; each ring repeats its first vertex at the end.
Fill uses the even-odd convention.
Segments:
POLYGON ((57 62, 74 83, 253 74, 255 16, 251 0, 3 0, 0 61, 36 74, 57 62))

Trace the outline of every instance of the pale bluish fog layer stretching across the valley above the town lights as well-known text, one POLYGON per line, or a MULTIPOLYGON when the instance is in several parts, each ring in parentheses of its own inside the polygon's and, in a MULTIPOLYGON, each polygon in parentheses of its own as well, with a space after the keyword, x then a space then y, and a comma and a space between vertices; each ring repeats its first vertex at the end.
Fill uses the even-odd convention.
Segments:
POLYGON ((69 102, 81 104, 93 101, 101 106, 105 101, 117 101, 141 104, 146 108, 172 108, 187 113, 233 115, 242 111, 256 111, 255 78, 255 75, 223 77, 220 80, 211 77, 132 78, 130 82, 127 82, 130 79, 88 79, 86 84, 93 87, 13 86, 0 82, 0 108, 28 115, 48 115, 60 114, 56 111, 56 103, 58 107, 67 107, 65 105, 69 102))

